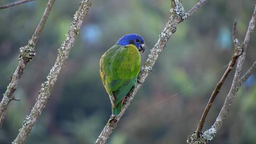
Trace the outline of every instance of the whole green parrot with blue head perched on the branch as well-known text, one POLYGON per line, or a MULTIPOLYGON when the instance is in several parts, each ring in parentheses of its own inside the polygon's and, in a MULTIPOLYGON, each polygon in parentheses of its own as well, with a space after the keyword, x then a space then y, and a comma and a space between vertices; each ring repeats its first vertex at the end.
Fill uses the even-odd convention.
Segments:
POLYGON ((119 115, 128 92, 137 86, 140 71, 140 51, 145 51, 144 39, 138 34, 122 36, 100 60, 100 76, 109 94, 112 116, 119 115))

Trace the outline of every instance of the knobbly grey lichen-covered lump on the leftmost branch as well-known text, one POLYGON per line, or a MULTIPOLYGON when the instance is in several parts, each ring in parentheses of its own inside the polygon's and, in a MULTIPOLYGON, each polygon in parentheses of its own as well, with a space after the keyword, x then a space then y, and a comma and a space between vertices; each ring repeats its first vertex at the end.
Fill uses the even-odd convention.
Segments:
POLYGON ((29 40, 26 46, 19 48, 19 58, 30 61, 34 56, 36 56, 35 43, 33 43, 32 40, 29 40))

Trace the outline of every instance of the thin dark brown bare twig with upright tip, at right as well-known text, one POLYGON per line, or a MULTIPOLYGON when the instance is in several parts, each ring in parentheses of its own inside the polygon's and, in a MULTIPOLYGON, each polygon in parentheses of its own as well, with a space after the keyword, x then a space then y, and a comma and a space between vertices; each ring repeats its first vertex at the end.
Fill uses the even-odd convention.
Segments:
POLYGON ((218 95, 218 93, 219 93, 219 91, 221 89, 222 84, 224 83, 224 81, 228 77, 229 72, 232 70, 232 68, 236 64, 238 57, 241 54, 243 54, 243 50, 241 49, 241 47, 240 47, 240 45, 238 43, 238 39, 236 38, 236 28, 237 28, 237 19, 235 19, 234 24, 233 24, 233 36, 232 36, 233 37, 233 41, 234 41, 234 45, 235 45, 235 54, 233 54, 233 56, 231 58, 231 61, 229 62, 229 67, 227 68, 227 70, 224 72, 223 76, 221 77, 221 79, 217 83, 215 89, 213 90, 213 92, 212 92, 212 94, 210 96, 210 99, 209 99, 209 101, 207 103, 207 106, 204 109, 204 112, 203 112, 203 114, 201 116, 201 119, 199 121, 199 124, 197 126, 197 130, 196 130, 197 137, 200 137, 200 135, 201 135, 202 128, 203 128, 205 119, 207 117, 207 114, 208 114, 208 112, 210 110, 210 107, 211 107, 214 99, 217 97, 217 95, 218 95))

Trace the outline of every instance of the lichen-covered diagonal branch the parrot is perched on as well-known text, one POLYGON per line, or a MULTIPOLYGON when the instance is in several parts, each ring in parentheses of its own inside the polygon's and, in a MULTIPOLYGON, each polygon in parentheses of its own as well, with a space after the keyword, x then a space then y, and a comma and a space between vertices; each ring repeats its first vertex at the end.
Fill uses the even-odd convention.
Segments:
MULTIPOLYGON (((205 1, 205 0, 201 0, 205 1)), ((183 20, 187 19, 187 13, 184 12, 184 8, 182 3, 179 0, 174 0, 175 6, 172 5, 171 9, 171 16, 163 30, 160 34, 158 41, 156 42, 155 46, 150 50, 150 54, 142 66, 141 71, 138 75, 138 84, 137 87, 130 90, 127 95, 127 99, 123 106, 121 113, 117 116, 111 116, 108 120, 106 126, 103 128, 101 134, 99 135, 98 139, 96 140, 95 144, 105 144, 106 141, 109 139, 109 136, 112 134, 114 129, 119 123, 120 118, 125 113, 126 109, 128 108, 129 104, 131 103, 132 99, 134 98, 135 94, 141 87, 142 83, 145 81, 148 74, 152 71, 152 67, 155 64, 159 54, 162 53, 164 48, 167 45, 167 41, 169 40, 170 36, 175 33, 177 25, 182 22, 183 20)))

